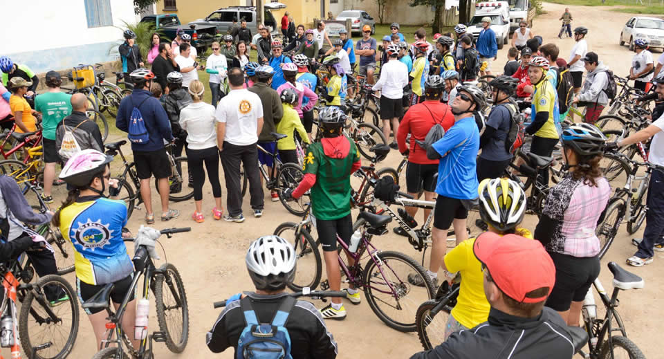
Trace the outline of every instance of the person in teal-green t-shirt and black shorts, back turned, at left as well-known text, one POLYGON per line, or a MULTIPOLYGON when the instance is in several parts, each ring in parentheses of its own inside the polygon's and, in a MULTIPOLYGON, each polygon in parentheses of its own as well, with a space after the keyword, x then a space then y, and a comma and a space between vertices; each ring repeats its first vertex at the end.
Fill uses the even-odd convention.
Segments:
POLYGON ((71 95, 60 91, 62 77, 56 71, 46 73, 48 91, 35 97, 35 111, 42 113, 42 137, 44 151, 44 203, 53 203, 55 164, 62 162, 55 146, 55 128, 63 118, 71 115, 71 95))

